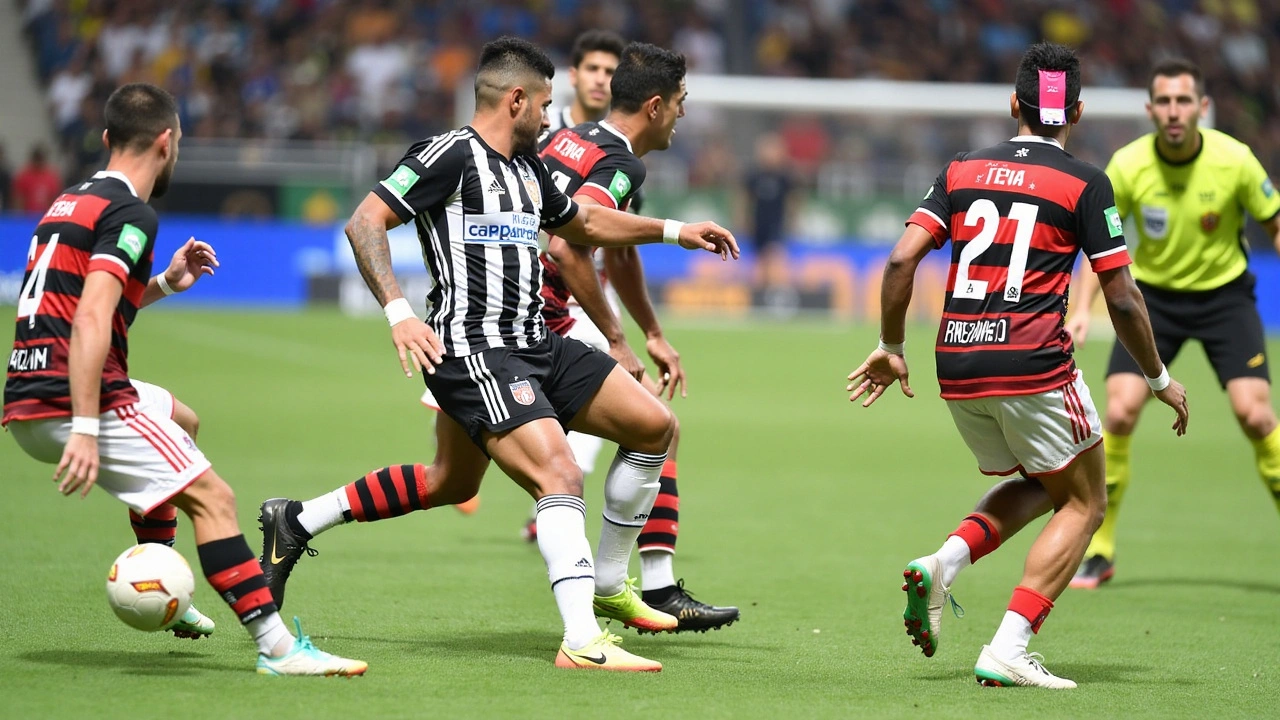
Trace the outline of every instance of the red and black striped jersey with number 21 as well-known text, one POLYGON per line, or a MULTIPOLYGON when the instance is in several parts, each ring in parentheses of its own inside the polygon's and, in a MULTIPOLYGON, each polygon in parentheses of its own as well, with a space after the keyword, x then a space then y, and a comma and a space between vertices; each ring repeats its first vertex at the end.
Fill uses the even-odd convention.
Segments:
POLYGON ((1075 377, 1064 323, 1075 258, 1096 272, 1128 265, 1111 181, 1053 140, 1019 136, 961 152, 908 223, 951 272, 938 327, 942 397, 1032 395, 1075 377))

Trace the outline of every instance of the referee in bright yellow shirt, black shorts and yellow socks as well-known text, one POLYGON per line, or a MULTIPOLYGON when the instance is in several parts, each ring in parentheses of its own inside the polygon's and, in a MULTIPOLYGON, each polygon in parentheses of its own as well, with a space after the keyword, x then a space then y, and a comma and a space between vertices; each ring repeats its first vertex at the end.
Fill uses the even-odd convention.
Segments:
MULTIPOLYGON (((1280 193, 1244 143, 1199 128, 1208 110, 1201 70, 1187 60, 1156 65, 1147 86, 1156 131, 1121 147, 1107 165, 1120 217, 1134 215, 1133 275, 1151 310, 1160 357, 1172 363, 1198 340, 1226 388, 1235 419, 1253 443, 1258 475, 1280 510, 1280 429, 1271 409, 1266 337, 1243 242, 1244 213, 1280 250, 1280 193)), ((1066 329, 1089 332, 1098 279, 1085 273, 1066 329)), ((1115 532, 1129 487, 1129 439, 1147 401, 1146 386, 1116 345, 1107 366, 1107 515, 1093 536, 1073 588, 1097 588, 1115 574, 1115 532)))

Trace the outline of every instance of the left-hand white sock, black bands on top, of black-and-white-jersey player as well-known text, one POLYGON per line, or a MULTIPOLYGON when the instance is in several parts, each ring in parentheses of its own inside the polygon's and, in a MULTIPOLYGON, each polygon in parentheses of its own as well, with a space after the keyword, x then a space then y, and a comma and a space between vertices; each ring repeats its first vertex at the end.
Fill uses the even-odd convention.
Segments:
POLYGON ((572 495, 548 495, 538 501, 538 550, 547 562, 556 606, 564 621, 564 644, 581 650, 600 634, 591 601, 595 566, 586 542, 586 503, 572 495))

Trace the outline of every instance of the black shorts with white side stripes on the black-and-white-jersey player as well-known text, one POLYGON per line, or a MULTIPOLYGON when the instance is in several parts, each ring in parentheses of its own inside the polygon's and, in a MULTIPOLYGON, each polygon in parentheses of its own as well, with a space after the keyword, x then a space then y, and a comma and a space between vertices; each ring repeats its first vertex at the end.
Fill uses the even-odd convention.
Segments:
POLYGON ((567 427, 614 365, 608 354, 548 332, 525 350, 448 357, 425 378, 440 410, 483 450, 484 432, 500 433, 541 418, 567 427))

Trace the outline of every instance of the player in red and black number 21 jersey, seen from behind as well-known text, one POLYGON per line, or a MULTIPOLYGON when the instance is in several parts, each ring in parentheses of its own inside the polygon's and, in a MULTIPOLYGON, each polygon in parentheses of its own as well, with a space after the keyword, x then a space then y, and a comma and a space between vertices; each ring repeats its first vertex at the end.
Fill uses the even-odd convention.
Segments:
POLYGON ((897 382, 915 269, 951 238, 951 273, 937 338, 938 384, 956 429, 993 487, 933 555, 908 564, 906 632, 925 656, 938 648, 956 575, 1041 515, 1021 583, 974 674, 984 685, 1074 688, 1027 652, 1066 588, 1106 506, 1098 416, 1064 329, 1071 268, 1084 252, 1098 273, 1116 333, 1149 391, 1187 429, 1187 396, 1169 378, 1129 275, 1111 183, 1064 150, 1080 120, 1080 63, 1060 45, 1033 45, 1018 68, 1010 111, 1018 136, 961 152, 938 174, 884 266, 881 343, 849 375, 850 400, 869 406, 897 382))

